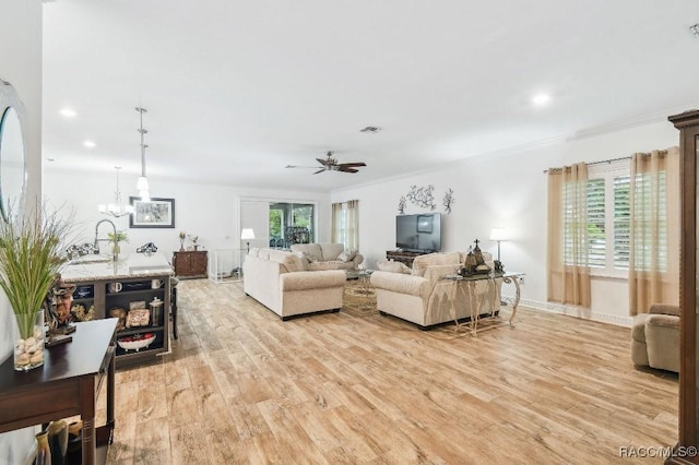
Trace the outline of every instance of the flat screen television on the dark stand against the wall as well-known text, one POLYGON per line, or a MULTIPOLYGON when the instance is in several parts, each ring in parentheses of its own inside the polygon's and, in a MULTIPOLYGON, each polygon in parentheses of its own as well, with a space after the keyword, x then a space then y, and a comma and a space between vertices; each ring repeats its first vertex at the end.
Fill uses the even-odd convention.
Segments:
POLYGON ((408 252, 441 250, 441 213, 419 213, 395 217, 395 247, 408 252))

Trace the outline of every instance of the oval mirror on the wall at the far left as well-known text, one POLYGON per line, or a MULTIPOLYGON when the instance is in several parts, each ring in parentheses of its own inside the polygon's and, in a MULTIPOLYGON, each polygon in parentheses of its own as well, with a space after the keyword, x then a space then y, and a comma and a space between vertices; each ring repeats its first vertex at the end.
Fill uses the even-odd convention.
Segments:
POLYGON ((14 88, 0 81, 0 215, 23 207, 25 181, 25 144, 23 107, 14 88))

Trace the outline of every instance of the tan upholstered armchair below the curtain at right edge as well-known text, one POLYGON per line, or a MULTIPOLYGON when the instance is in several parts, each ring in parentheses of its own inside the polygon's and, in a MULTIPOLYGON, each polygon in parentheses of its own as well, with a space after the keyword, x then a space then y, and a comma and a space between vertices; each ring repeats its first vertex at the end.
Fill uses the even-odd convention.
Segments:
POLYGON ((653 303, 633 318, 633 365, 679 372, 679 307, 653 303))

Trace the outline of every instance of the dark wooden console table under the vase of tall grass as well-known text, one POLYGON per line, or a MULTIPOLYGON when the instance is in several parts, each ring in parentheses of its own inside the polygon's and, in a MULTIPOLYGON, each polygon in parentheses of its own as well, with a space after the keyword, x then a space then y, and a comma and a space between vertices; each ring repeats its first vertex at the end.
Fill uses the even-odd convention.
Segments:
POLYGON ((0 365, 0 432, 80 415, 82 463, 95 464, 97 446, 112 440, 117 321, 76 323, 73 341, 45 350, 44 366, 32 371, 15 371, 12 356, 0 365), (107 421, 95 428, 95 403, 105 374, 107 421))

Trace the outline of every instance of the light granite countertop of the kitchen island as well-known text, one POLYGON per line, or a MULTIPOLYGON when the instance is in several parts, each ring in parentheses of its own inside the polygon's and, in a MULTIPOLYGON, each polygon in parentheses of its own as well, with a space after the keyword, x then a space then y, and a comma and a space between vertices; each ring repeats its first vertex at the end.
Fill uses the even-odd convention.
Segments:
POLYGON ((154 253, 129 253, 114 262, 110 255, 83 255, 68 264, 61 272, 67 283, 100 279, 125 279, 132 277, 151 277, 174 275, 175 271, 165 255, 154 253))

